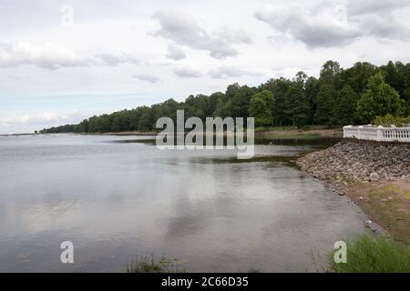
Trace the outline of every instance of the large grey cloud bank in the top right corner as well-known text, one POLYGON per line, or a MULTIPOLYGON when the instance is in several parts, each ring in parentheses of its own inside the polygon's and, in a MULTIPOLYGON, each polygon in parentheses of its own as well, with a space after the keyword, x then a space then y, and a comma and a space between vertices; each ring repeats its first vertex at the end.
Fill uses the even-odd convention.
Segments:
POLYGON ((332 6, 277 6, 255 12, 256 19, 309 47, 348 45, 362 37, 407 40, 410 31, 392 13, 409 1, 349 1, 332 6))

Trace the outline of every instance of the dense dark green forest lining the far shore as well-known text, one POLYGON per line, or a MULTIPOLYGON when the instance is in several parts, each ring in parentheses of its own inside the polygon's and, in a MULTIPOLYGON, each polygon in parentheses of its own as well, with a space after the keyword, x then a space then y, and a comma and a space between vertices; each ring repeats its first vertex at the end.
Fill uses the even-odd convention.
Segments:
POLYGON ((159 117, 255 117, 260 127, 369 124, 377 116, 410 115, 410 64, 376 66, 356 63, 343 69, 326 62, 319 78, 297 73, 292 80, 271 79, 258 87, 229 85, 225 93, 190 95, 184 102, 169 99, 109 115, 92 116, 78 125, 62 125, 41 133, 104 133, 151 131, 159 117))

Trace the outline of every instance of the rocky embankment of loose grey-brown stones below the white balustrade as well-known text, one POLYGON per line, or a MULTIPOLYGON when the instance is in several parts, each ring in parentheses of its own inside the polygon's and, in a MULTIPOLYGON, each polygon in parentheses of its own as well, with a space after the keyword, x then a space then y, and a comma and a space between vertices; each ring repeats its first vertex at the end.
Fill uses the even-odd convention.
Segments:
POLYGON ((343 140, 296 163, 303 171, 336 186, 410 178, 410 144, 343 140))

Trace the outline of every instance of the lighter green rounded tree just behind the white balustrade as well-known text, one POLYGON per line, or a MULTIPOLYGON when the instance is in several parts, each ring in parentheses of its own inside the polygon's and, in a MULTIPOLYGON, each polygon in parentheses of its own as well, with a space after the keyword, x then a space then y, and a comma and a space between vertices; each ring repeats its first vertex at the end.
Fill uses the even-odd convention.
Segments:
POLYGON ((367 89, 357 103, 357 113, 364 123, 370 123, 376 116, 402 115, 405 101, 397 91, 384 82, 381 73, 369 79, 367 89))

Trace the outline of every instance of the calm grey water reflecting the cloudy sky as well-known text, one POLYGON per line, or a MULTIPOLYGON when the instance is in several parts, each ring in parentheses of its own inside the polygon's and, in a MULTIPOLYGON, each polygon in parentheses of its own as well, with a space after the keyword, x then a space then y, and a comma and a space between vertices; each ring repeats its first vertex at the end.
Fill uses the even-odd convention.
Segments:
POLYGON ((311 248, 364 232, 354 204, 292 164, 321 143, 238 161, 142 139, 0 136, 0 271, 123 272, 149 254, 194 272, 314 271, 311 248), (59 261, 66 240, 74 265, 59 261))

